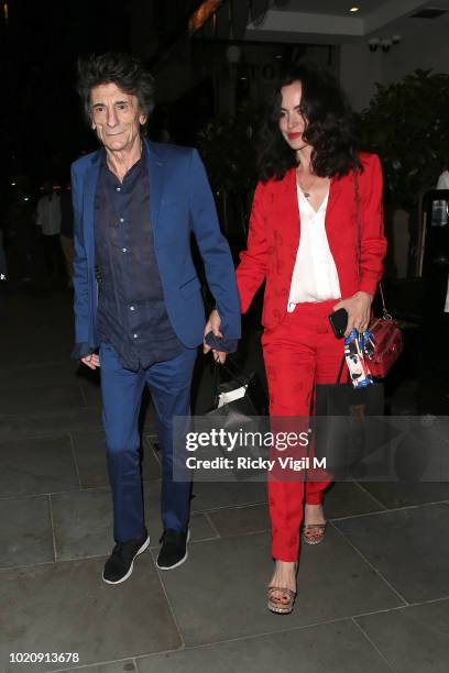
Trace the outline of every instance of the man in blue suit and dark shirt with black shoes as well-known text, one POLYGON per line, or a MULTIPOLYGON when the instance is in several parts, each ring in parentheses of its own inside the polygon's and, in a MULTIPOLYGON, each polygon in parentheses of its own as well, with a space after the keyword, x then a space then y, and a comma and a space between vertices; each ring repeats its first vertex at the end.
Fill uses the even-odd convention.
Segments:
POLYGON ((146 383, 152 395, 163 450, 157 566, 169 570, 187 558, 191 489, 189 479, 173 477, 173 418, 189 415, 204 335, 213 333, 220 362, 236 347, 240 306, 229 246, 197 152, 141 135, 153 108, 150 74, 136 59, 116 53, 91 56, 78 71, 86 117, 103 147, 72 167, 73 356, 101 373, 116 539, 103 580, 118 584, 150 543, 138 430, 143 387, 146 383), (216 300, 206 327, 191 233, 216 300))

